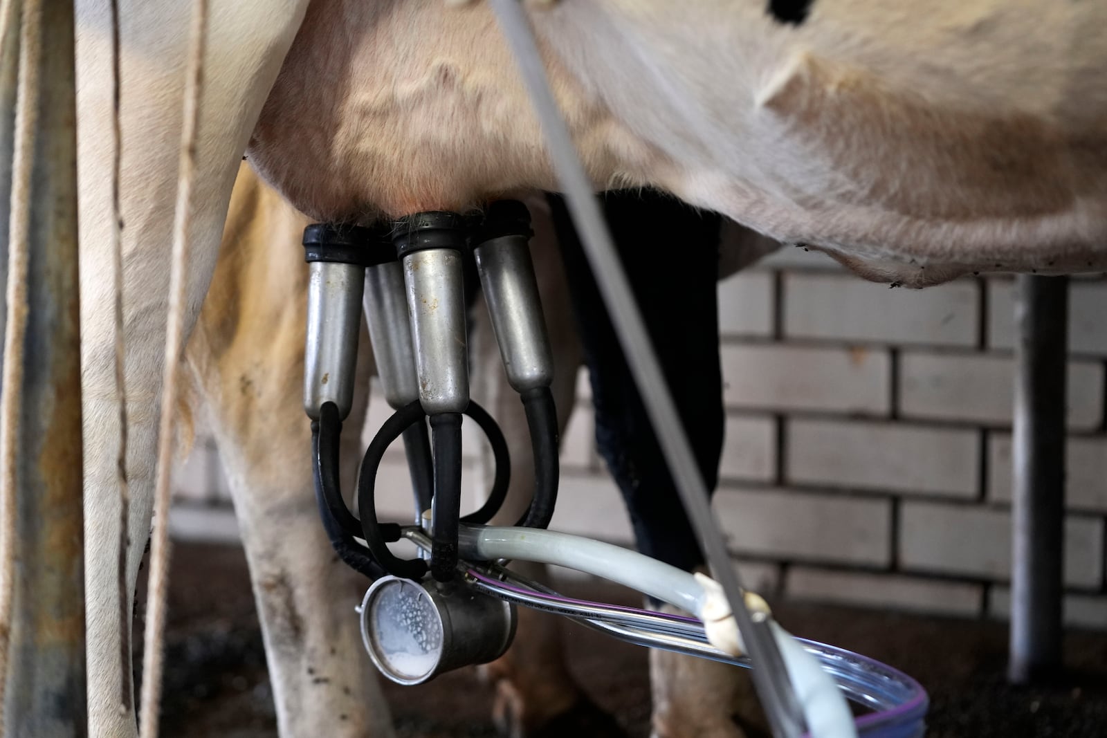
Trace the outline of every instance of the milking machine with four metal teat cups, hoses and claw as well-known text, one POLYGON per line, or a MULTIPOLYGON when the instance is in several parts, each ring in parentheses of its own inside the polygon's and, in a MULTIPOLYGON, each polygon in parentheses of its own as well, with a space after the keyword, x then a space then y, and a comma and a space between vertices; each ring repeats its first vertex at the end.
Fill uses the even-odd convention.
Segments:
MULTIPOLYGON (((723 589, 619 547, 547 531, 558 487, 552 358, 521 202, 484 214, 421 212, 389 226, 304 230, 309 264, 304 408, 311 418, 315 495, 324 529, 346 564, 373 580, 355 609, 374 665, 399 684, 500 656, 515 634, 517 605, 565 615, 586 627, 655 648, 752 666, 723 589), (507 378, 519 394, 535 457, 535 491, 515 527, 486 523, 510 475, 496 422, 469 398, 466 261, 479 277, 507 378), (356 511, 339 479, 339 437, 351 410, 362 314, 393 414, 361 461, 356 511), (462 418, 482 429, 495 475, 479 510, 462 514, 462 418), (430 427, 430 430, 428 430, 430 427), (413 523, 381 522, 375 482, 385 450, 403 438, 414 490, 413 523), (418 555, 402 559, 390 543, 418 555), (568 567, 631 586, 692 616, 571 600, 508 571, 508 560, 568 567)), ((816 736, 922 735, 927 697, 910 677, 863 656, 800 641, 744 592, 751 617, 779 658, 784 689, 816 736), (846 699, 868 709, 855 720, 846 699)))

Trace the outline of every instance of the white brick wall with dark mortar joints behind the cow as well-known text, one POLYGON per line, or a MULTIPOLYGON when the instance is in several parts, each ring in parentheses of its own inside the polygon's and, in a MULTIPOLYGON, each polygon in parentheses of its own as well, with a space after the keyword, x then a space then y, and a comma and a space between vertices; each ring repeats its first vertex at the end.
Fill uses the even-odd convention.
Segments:
MULTIPOLYGON (((714 507, 747 584, 821 602, 1006 616, 1012 281, 889 290, 787 248, 722 282, 718 298, 727 417, 714 507)), ((1107 628, 1107 281, 1074 280, 1070 305, 1065 617, 1107 628)), ((554 524, 630 544, 622 500, 596 455, 583 371, 577 387, 554 524)), ((372 413, 379 425, 386 409, 374 403, 372 413)), ((476 443, 467 433, 470 500, 486 484, 476 443)), ((406 518, 402 451, 381 474, 382 516, 406 518)), ((198 443, 177 487, 175 534, 234 536, 209 441, 198 443), (208 521, 213 503, 224 512, 208 521)))

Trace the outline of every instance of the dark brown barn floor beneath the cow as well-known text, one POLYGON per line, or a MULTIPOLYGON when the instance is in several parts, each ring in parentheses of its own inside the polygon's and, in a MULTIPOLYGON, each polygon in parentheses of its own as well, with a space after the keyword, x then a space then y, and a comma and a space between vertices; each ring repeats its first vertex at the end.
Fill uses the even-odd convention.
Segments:
MULTIPOLYGON (((174 550, 167 636, 165 738, 270 738, 276 717, 242 551, 182 544, 174 550)), ((613 586, 566 588, 612 602, 613 586)), ((1107 634, 1072 633, 1067 676, 1032 689, 1004 682, 1003 624, 788 604, 776 607, 794 633, 892 664, 930 692, 930 736, 941 738, 1107 735, 1107 634)), ((353 613, 351 613, 353 616, 353 613)), ((572 624, 570 659, 593 698, 633 738, 649 734, 645 651, 572 624)), ((141 624, 135 633, 142 633, 141 624)), ((495 736, 488 692, 470 671, 428 685, 385 683, 403 738, 495 736)), ((576 738, 587 738, 578 736, 576 738)))

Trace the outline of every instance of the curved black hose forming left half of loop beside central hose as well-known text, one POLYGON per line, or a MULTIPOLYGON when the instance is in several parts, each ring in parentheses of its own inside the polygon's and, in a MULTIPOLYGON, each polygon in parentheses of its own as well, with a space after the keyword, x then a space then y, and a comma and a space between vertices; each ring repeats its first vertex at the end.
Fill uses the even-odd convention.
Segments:
POLYGON ((404 579, 420 580, 426 573, 426 562, 422 559, 400 559, 392 554, 385 545, 386 539, 393 541, 400 538, 399 526, 381 526, 376 520, 376 500, 374 489, 376 487, 376 472, 381 467, 381 459, 384 451, 396 438, 403 434, 404 429, 416 422, 422 423, 424 417, 423 407, 416 399, 404 405, 392 414, 381 429, 373 437, 365 456, 361 460, 361 474, 358 476, 358 510, 361 513, 361 530, 373 558, 390 574, 404 579), (393 530, 394 529, 394 530, 393 530))

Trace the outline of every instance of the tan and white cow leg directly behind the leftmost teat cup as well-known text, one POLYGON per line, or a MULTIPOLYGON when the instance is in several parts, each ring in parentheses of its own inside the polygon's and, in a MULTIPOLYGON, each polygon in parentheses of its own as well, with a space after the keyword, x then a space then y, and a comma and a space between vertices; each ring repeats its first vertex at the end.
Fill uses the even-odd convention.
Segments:
MULTIPOLYGON (((368 582, 334 555, 312 493, 302 407, 307 224, 242 167, 188 360, 235 499, 280 735, 386 738, 387 705, 353 610, 368 582)), ((359 349, 341 449, 348 490, 372 365, 364 331, 359 349)))

